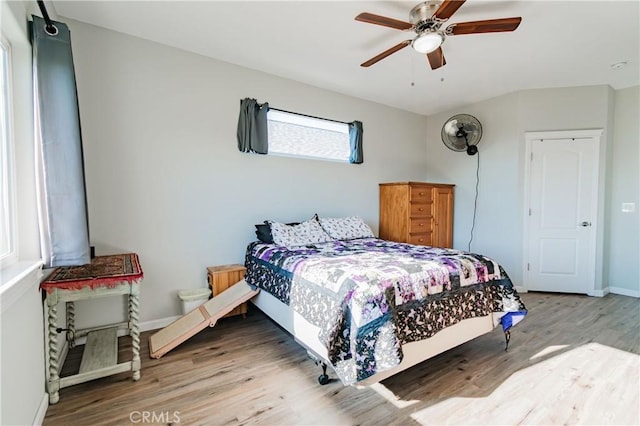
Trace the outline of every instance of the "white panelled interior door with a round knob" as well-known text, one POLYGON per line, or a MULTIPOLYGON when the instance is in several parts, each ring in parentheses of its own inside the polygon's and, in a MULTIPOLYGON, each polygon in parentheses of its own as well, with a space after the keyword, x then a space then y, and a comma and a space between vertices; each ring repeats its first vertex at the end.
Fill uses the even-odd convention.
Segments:
POLYGON ((528 290, 593 293, 599 136, 529 141, 528 290))

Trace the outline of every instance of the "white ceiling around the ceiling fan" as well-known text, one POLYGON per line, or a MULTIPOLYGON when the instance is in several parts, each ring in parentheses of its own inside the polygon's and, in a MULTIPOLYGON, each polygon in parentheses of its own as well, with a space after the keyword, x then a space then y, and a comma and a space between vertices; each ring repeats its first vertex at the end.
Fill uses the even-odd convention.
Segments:
MULTIPOLYGON (((50 14, 420 114, 524 89, 639 84, 640 1, 468 0, 448 23, 521 16, 511 33, 450 36, 433 71, 409 33, 354 20, 409 20, 418 1, 57 1, 50 14), (623 69, 611 65, 626 61, 623 69)), ((445 25, 446 26, 446 25, 445 25)))

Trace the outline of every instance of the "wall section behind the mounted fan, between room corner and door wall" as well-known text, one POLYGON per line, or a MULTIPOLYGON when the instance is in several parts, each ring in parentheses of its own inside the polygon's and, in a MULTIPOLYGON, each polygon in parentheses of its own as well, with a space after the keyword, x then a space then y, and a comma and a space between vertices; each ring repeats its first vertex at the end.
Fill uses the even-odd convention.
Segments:
POLYGON ((515 94, 429 116, 427 127, 427 179, 456 185, 454 248, 468 249, 479 158, 479 196, 471 250, 498 260, 516 285, 522 283, 519 158, 523 147, 518 128, 518 96, 515 94), (451 151, 442 143, 442 125, 459 113, 471 114, 482 123, 479 156, 451 151))

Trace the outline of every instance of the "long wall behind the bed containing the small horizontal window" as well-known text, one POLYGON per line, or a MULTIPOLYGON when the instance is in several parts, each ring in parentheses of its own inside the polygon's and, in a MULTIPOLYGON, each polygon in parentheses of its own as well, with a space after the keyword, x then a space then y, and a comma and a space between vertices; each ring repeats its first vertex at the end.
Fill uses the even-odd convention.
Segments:
MULTIPOLYGON (((377 231, 378 183, 423 180, 424 116, 87 24, 72 31, 89 222, 98 254, 134 251, 141 321, 179 314, 206 267, 244 263, 255 223, 360 215, 377 231), (364 164, 243 154, 239 102, 364 125, 364 164)), ((102 321, 124 304, 78 304, 102 321)))

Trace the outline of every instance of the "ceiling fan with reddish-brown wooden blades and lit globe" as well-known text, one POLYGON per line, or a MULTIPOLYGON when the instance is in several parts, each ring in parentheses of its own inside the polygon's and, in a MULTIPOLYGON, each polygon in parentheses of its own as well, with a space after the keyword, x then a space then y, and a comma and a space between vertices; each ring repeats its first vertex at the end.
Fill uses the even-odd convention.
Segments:
POLYGON ((409 22, 400 21, 386 16, 364 12, 356 16, 356 21, 382 25, 402 31, 413 31, 416 36, 402 41, 379 55, 360 64, 369 67, 398 50, 411 45, 419 53, 427 55, 431 69, 438 69, 447 62, 442 53, 442 43, 447 36, 462 34, 481 34, 513 31, 518 28, 522 18, 486 19, 451 24, 444 30, 442 25, 464 4, 466 0, 430 0, 420 3, 411 9, 409 22))

